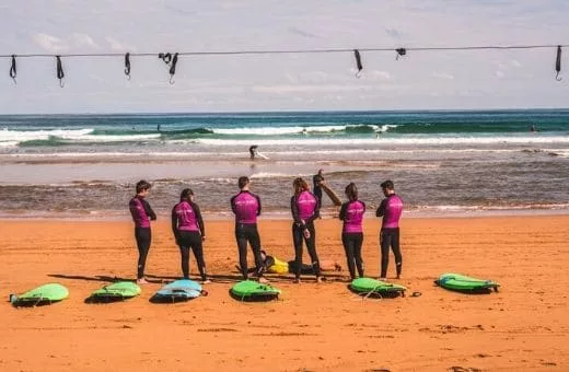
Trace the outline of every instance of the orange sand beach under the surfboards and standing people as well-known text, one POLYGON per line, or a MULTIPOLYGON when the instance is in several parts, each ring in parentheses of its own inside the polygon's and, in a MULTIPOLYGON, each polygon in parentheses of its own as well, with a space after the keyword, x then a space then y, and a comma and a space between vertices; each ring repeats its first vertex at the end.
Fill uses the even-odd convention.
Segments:
MULTIPOLYGON (((160 217, 159 217, 160 218, 160 217)), ((278 301, 230 298, 240 280, 232 221, 208 221, 209 295, 153 304, 181 276, 169 221, 153 224, 142 294, 85 304, 115 278, 133 279, 130 221, 3 220, 0 224, 0 370, 3 371, 567 371, 569 216, 402 220, 403 278, 421 297, 365 299, 347 289, 340 221, 316 222, 321 258, 344 271, 317 284, 269 276, 278 301), (491 278, 498 293, 438 288, 445 271, 491 278), (50 306, 15 309, 9 293, 45 282, 69 288, 50 306)), ((368 219, 367 275, 379 272, 380 221, 368 219)), ((293 256, 290 221, 262 220, 265 249, 293 256)), ((252 257, 249 254, 249 261, 252 257)), ((190 268, 196 272, 194 257, 190 268)), ((394 274, 393 256, 390 275, 394 274)), ((196 277, 197 278, 197 277, 196 277)))

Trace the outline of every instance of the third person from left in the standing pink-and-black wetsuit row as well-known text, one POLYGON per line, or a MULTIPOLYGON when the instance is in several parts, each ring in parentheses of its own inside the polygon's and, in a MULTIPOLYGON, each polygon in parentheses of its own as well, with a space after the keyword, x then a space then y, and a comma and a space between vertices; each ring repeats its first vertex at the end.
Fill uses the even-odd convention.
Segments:
POLYGON ((260 282, 263 278, 263 260, 260 259, 260 236, 257 230, 257 216, 260 214, 260 198, 249 191, 248 177, 240 177, 240 193, 231 198, 231 210, 235 214, 235 240, 237 241, 240 269, 243 278, 247 272, 247 243, 255 257, 255 271, 260 282))

